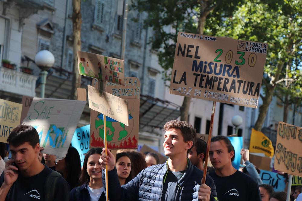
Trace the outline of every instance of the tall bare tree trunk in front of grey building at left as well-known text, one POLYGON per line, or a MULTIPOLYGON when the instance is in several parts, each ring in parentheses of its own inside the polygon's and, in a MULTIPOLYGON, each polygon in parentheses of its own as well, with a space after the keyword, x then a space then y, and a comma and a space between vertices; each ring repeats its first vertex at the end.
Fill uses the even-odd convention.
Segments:
POLYGON ((77 62, 77 51, 81 50, 81 25, 81 0, 72 0, 73 71, 70 99, 77 99, 77 88, 81 87, 77 62))

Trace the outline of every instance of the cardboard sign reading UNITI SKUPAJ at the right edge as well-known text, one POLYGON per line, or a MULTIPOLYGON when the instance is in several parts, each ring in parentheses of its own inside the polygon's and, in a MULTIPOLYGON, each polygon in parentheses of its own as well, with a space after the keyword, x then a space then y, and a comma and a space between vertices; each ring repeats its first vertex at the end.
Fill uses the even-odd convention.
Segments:
POLYGON ((274 168, 302 177, 302 128, 279 121, 274 168))

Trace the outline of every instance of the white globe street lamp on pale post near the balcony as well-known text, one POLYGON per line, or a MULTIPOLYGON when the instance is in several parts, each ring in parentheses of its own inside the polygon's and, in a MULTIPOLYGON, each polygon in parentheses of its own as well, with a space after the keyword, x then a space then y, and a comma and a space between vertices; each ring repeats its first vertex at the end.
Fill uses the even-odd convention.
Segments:
POLYGON ((55 57, 53 53, 48 50, 41 50, 35 56, 35 63, 41 69, 41 98, 44 98, 45 94, 45 84, 47 71, 53 66, 55 63, 55 57))

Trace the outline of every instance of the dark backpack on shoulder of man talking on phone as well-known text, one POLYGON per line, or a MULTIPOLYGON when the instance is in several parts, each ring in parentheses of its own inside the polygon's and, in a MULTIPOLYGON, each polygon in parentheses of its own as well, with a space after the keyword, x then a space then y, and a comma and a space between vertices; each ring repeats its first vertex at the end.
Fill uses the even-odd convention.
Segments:
POLYGON ((62 175, 57 171, 52 171, 50 174, 47 175, 44 186, 46 201, 53 201, 56 190, 56 184, 60 177, 62 177, 62 175))

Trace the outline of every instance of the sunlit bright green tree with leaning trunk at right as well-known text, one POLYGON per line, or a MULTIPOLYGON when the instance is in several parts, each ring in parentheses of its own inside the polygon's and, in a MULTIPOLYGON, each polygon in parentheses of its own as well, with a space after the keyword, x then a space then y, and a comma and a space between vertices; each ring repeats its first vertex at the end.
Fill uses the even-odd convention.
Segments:
MULTIPOLYGON (((286 65, 290 64, 301 44, 302 1, 296 0, 246 0, 233 16, 225 19, 223 26, 209 33, 235 39, 267 42, 268 53, 262 79, 264 96, 259 108, 255 129, 261 130, 268 106, 278 84, 290 81, 285 78, 286 65)), ((301 54, 300 54, 301 57, 301 54)), ((300 73, 300 72, 299 72, 300 73)))

